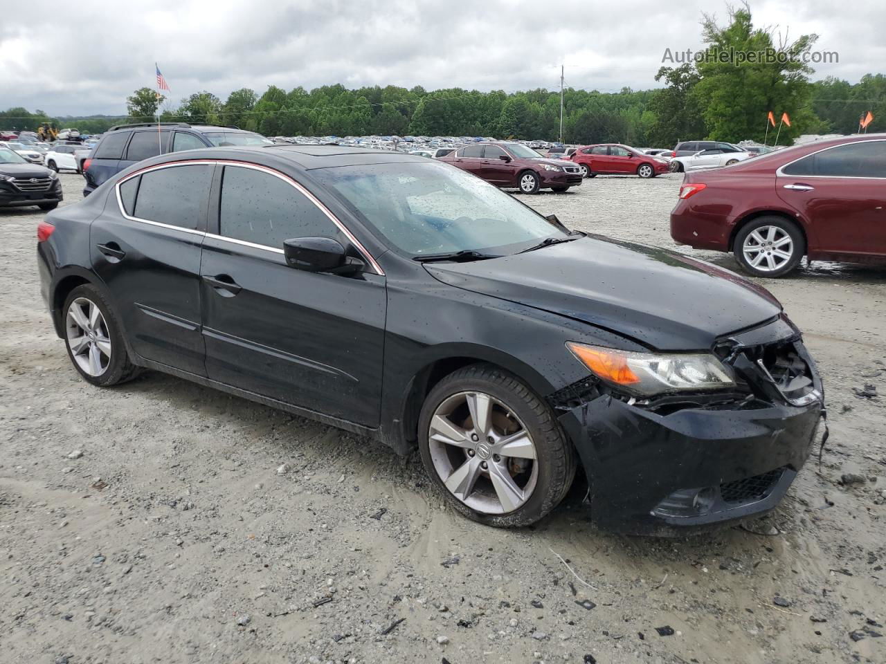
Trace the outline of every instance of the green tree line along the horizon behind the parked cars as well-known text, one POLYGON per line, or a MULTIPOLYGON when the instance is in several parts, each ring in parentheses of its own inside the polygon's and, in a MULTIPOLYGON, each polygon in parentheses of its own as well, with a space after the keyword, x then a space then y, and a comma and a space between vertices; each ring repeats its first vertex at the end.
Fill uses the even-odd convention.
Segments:
MULTIPOLYGON (((711 58, 663 66, 655 75, 664 83, 660 89, 565 89, 564 140, 664 147, 697 138, 762 142, 766 115, 772 111, 776 118, 789 113, 791 126, 781 128, 780 141, 789 144, 800 134, 852 133, 863 112, 886 118, 886 77, 881 73, 866 74, 855 84, 832 77, 810 81, 813 71, 804 64, 804 55, 812 51, 817 35, 784 42, 771 29, 753 26, 747 4, 730 8, 723 26, 703 14, 702 31, 713 53, 770 49, 788 57, 738 65, 711 58)), ((158 111, 161 121, 234 125, 269 136, 470 135, 552 141, 560 132, 560 93, 547 89, 507 93, 326 85, 286 91, 270 86, 261 95, 238 89, 224 101, 201 91, 173 106, 142 88, 127 98, 127 110, 126 118, 54 120, 57 125, 74 123, 86 133, 122 121, 156 121, 158 111)), ((0 112, 0 127, 33 128, 46 120, 53 119, 40 111, 0 112)), ((770 133, 770 143, 772 139, 770 133)))

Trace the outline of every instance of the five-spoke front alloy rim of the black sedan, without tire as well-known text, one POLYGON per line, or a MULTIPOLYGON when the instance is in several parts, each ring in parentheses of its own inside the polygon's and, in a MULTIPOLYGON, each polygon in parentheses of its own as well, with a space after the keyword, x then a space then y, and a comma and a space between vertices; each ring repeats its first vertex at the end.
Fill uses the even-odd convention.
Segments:
POLYGON ((457 392, 431 417, 428 447, 447 490, 485 514, 525 505, 538 480, 532 435, 517 414, 484 392, 457 392))

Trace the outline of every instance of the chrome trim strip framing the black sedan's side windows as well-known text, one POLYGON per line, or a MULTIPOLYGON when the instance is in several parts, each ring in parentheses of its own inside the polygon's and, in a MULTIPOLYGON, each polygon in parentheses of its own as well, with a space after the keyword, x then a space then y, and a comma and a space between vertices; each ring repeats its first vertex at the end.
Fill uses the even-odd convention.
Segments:
POLYGON ((254 171, 261 171, 262 173, 267 173, 269 175, 273 175, 280 180, 283 180, 291 187, 294 187, 300 194, 304 197, 307 197, 311 203, 313 203, 320 212, 323 212, 324 215, 335 225, 338 230, 340 230, 348 239, 348 241, 354 244, 357 251, 360 251, 361 255, 364 259, 366 259, 369 266, 375 271, 376 274, 380 276, 385 275, 385 271, 378 265, 376 259, 372 257, 372 254, 367 251, 367 249, 362 245, 360 240, 358 240, 354 234, 350 231, 349 228, 345 226, 338 217, 336 217, 332 212, 330 212, 329 208, 326 205, 323 205, 323 202, 320 201, 317 197, 314 196, 310 191, 304 188, 299 182, 293 180, 289 175, 285 175, 280 173, 279 171, 274 170, 273 168, 269 168, 268 166, 260 166, 259 164, 251 164, 248 162, 241 162, 233 159, 187 159, 183 161, 171 161, 166 164, 158 164, 157 166, 148 166, 141 170, 136 171, 135 173, 128 174, 125 178, 117 181, 114 184, 114 192, 117 196, 117 207, 120 209, 120 214, 124 219, 130 221, 138 221, 143 224, 151 224, 152 226, 158 226, 159 228, 170 228, 172 230, 183 231, 184 233, 189 233, 191 235, 202 235, 204 237, 211 237, 214 240, 221 240, 223 242, 239 244, 245 247, 251 247, 253 249, 262 249, 264 251, 271 251, 277 254, 283 254, 284 251, 282 249, 278 249, 276 247, 270 247, 267 244, 258 244, 252 242, 246 242, 245 240, 238 240, 235 237, 225 237, 224 235, 215 235, 214 233, 207 233, 206 231, 195 230, 192 228, 182 228, 181 226, 173 226, 172 224, 164 224, 160 221, 152 221, 149 219, 141 219, 140 217, 135 217, 131 214, 128 214, 123 207, 123 200, 120 197, 120 186, 137 175, 142 175, 145 173, 151 173, 152 171, 159 171, 163 168, 175 168, 175 166, 237 166, 238 168, 251 168, 254 171))

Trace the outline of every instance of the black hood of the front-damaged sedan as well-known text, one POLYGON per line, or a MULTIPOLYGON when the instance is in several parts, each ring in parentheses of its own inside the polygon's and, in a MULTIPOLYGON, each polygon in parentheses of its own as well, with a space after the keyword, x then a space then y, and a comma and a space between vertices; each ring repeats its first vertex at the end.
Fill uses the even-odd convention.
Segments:
POLYGON ((738 274, 596 236, 425 268, 457 288, 582 320, 660 351, 707 350, 781 313, 773 295, 738 274))

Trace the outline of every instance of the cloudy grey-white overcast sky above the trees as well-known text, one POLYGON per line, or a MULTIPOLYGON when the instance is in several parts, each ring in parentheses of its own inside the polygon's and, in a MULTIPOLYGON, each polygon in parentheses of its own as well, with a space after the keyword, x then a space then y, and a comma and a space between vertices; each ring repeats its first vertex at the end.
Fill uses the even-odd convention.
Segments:
MULTIPOLYGON (((816 33, 817 50, 839 53, 813 78, 856 82, 883 70, 886 4, 843 7, 751 4, 755 25, 816 33)), ((701 47, 703 9, 727 19, 726 4, 711 0, 43 0, 33 12, 3 12, 0 108, 125 114, 134 89, 153 87, 155 61, 176 102, 272 84, 557 89, 561 62, 573 88, 648 89, 665 48, 701 47)))

